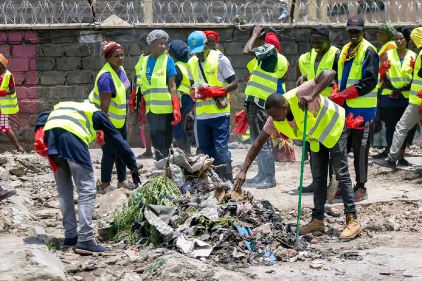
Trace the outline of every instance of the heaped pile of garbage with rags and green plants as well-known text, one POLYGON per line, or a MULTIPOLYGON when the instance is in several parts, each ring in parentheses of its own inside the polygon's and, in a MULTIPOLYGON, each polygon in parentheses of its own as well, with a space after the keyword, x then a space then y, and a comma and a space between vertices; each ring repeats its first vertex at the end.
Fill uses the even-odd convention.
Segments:
POLYGON ((179 149, 157 162, 152 174, 114 214, 111 233, 128 246, 166 247, 221 263, 271 264, 276 251, 293 258, 308 248, 295 245, 294 226, 266 200, 232 191, 213 170, 209 156, 179 149))

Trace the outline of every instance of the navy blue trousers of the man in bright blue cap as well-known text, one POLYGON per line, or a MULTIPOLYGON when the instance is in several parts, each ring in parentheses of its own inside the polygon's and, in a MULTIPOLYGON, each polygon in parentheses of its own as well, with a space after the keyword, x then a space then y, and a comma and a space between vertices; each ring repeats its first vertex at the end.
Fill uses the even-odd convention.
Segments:
POLYGON ((231 163, 228 151, 230 116, 197 120, 198 143, 203 154, 214 158, 214 164, 231 163))

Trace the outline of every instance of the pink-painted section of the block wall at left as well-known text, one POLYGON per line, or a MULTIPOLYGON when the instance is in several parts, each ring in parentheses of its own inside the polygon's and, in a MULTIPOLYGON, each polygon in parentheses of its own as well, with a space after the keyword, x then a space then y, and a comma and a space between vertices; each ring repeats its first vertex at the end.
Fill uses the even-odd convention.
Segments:
POLYGON ((6 55, 9 60, 7 68, 15 78, 20 109, 17 114, 10 116, 10 123, 13 130, 23 139, 32 138, 35 123, 33 116, 38 113, 35 45, 37 38, 36 32, 33 31, 0 31, 0 53, 6 55), (25 130, 30 132, 23 133, 25 130))

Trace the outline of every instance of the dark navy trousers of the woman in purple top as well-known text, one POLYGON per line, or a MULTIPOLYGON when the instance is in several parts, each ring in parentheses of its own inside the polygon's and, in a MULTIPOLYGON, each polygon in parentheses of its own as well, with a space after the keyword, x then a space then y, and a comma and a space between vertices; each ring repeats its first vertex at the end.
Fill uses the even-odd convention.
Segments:
MULTIPOLYGON (((117 131, 122 134, 122 138, 128 141, 128 127, 123 125, 117 131)), ((117 179, 119 181, 126 180, 126 165, 125 162, 117 155, 117 151, 114 149, 113 141, 104 134, 105 145, 101 146, 102 158, 101 158, 101 182, 109 183, 112 181, 112 172, 114 163, 116 163, 117 179)))

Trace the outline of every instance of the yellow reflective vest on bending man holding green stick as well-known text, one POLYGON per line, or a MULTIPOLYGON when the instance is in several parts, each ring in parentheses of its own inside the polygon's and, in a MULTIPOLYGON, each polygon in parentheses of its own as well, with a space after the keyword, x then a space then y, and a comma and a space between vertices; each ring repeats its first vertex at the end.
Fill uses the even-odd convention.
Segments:
MULTIPOLYGON (((296 95, 296 90, 293 89, 283 96, 289 102, 296 122, 296 128, 292 128, 287 120, 274 121, 274 125, 278 131, 287 137, 301 140, 303 138, 305 113, 298 106, 299 98, 296 95)), ((345 110, 342 107, 326 97, 320 96, 320 99, 321 109, 318 114, 314 116, 313 113, 308 112, 307 139, 311 141, 311 150, 313 152, 318 152, 319 150, 318 142, 313 140, 321 142, 327 148, 332 148, 339 141, 345 122, 345 110)))

